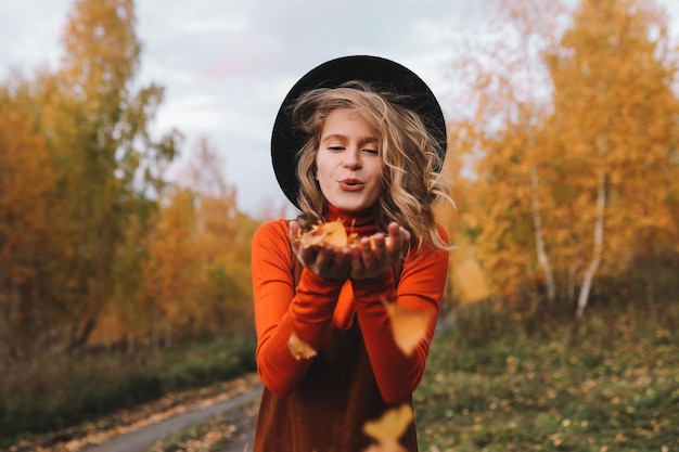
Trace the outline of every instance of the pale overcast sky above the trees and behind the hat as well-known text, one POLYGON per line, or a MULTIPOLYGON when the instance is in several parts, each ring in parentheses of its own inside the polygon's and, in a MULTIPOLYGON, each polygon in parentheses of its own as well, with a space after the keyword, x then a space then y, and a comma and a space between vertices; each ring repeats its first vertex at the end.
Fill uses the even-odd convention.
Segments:
MULTIPOLYGON (((521 0, 517 0, 521 1, 521 0)), ((307 70, 348 54, 395 60, 450 99, 446 64, 473 33, 476 0, 138 0, 139 81, 166 88, 154 130, 179 129, 185 155, 207 138, 225 158, 239 207, 287 205, 269 139, 281 101, 307 70)), ((674 18, 679 1, 663 0, 674 18)), ((0 2, 0 79, 55 67, 73 0, 0 2)), ((676 31, 679 27, 675 27, 676 31)))

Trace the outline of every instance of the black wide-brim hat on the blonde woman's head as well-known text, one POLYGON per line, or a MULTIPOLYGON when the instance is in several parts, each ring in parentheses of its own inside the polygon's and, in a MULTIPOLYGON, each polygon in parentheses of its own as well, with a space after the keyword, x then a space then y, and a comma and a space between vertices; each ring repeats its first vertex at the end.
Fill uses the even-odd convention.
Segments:
MULTIPOLYGON (((278 112, 271 134, 271 162, 279 185, 297 207, 297 153, 309 135, 293 124, 292 106, 307 91, 336 88, 347 81, 361 80, 377 91, 407 95, 402 103, 418 113, 430 134, 439 143, 440 160, 447 150, 446 120, 430 87, 409 68, 379 56, 351 55, 331 60, 309 70, 290 90, 278 112)), ((435 168, 440 171, 441 168, 435 168)))

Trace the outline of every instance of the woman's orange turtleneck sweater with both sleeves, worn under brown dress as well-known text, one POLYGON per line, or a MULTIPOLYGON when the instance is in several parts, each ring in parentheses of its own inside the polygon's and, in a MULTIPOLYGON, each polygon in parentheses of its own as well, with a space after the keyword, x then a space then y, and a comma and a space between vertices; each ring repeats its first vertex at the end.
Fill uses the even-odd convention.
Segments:
MULTIPOLYGON (((374 216, 348 217, 330 206, 325 220, 342 218, 359 236, 375 232, 374 216)), ((253 237, 252 273, 257 331, 257 364, 265 386, 286 396, 303 382, 313 360, 296 360, 287 349, 295 333, 320 349, 329 328, 346 331, 358 320, 377 387, 384 401, 394 404, 411 397, 424 372, 434 335, 448 269, 446 251, 413 250, 395 284, 392 271, 361 281, 329 281, 308 269, 295 287, 294 259, 287 220, 262 224, 253 237), (430 311, 425 339, 411 356, 394 343, 383 299, 413 310, 430 311)), ((439 233, 446 238, 445 231, 439 233)), ((328 389, 332 391, 332 388, 328 389)))

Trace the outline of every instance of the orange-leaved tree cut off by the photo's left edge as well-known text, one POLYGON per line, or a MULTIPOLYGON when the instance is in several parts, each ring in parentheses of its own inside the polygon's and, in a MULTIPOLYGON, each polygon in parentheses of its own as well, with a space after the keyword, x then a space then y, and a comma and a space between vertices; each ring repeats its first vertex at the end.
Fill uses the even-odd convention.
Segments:
POLYGON ((29 96, 24 80, 0 88, 0 360, 22 354, 28 320, 44 319, 39 287, 52 171, 29 96))

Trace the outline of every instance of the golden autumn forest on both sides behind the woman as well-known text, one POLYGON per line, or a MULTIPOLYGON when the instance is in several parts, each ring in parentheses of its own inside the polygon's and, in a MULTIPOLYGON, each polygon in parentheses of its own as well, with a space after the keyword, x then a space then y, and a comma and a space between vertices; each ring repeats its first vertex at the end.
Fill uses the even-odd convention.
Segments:
MULTIPOLYGON (((446 312, 490 302, 577 321, 676 304, 667 16, 653 0, 488 3, 500 31, 460 49, 463 89, 444 105, 446 312)), ((268 218, 240 208, 208 138, 180 183, 168 177, 182 134, 151 133, 164 87, 134 82, 134 2, 75 2, 62 38, 57 68, 0 81, 0 367, 252 340, 249 244, 268 218)))

